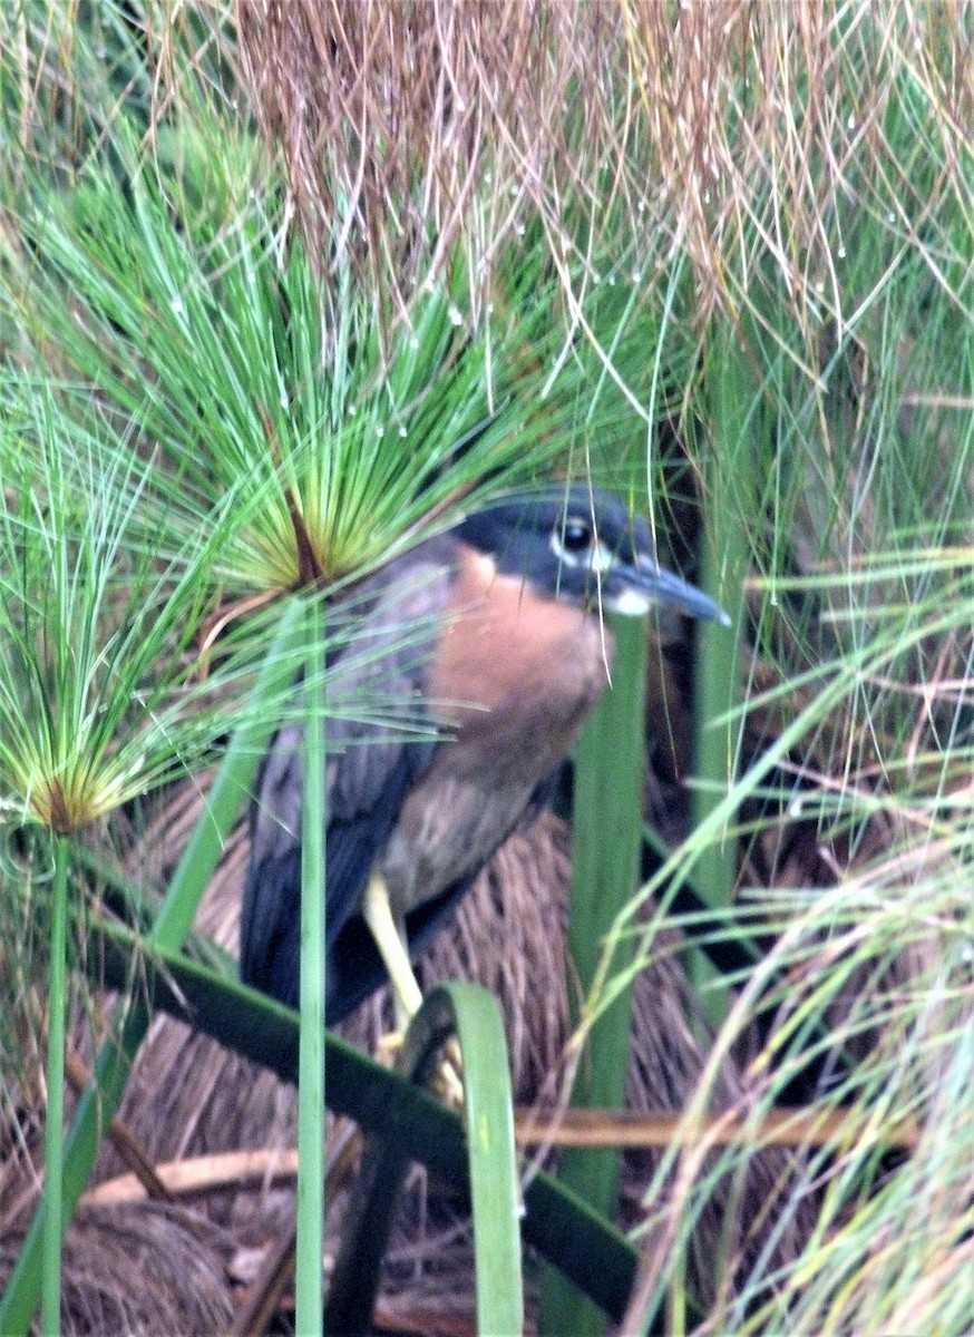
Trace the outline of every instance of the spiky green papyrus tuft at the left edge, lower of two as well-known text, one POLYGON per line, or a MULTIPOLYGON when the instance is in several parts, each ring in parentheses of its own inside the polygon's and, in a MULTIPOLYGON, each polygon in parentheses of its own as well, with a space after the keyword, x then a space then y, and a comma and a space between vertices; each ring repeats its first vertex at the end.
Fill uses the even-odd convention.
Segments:
POLYGON ((68 834, 199 765, 226 731, 239 652, 203 679, 191 647, 227 521, 157 531, 147 551, 151 461, 44 386, 8 377, 0 393, 0 805, 68 834))

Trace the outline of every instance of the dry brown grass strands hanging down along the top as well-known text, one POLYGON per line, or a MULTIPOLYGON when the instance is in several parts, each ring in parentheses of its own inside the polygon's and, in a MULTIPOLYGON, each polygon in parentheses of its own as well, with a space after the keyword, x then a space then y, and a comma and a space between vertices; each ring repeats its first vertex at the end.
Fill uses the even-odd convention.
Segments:
MULTIPOLYGON (((933 108, 942 195, 974 122, 961 4, 237 0, 268 138, 324 270, 405 305, 458 243, 475 293, 532 218, 573 283, 609 238, 697 271, 701 314, 771 262, 795 312, 838 291, 850 193, 922 226, 886 140, 895 87, 933 108)), ((649 278, 649 275, 648 275, 649 278)))

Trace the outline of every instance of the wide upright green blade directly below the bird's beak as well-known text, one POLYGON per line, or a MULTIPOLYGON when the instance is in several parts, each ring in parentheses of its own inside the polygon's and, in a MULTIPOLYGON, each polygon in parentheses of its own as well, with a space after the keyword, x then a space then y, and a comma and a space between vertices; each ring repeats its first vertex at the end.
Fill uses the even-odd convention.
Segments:
MULTIPOLYGON (((583 996, 629 965, 631 948, 605 963, 603 945, 615 916, 636 889, 642 837, 642 718, 646 628, 613 619, 617 640, 613 685, 595 709, 575 751, 574 846, 569 947, 583 996)), ((619 1108, 629 1067, 631 1023, 626 989, 598 1017, 575 1079, 577 1106, 619 1108)), ((611 1219, 619 1182, 615 1151, 566 1151, 559 1181, 611 1219)), ((605 1332, 605 1316, 565 1278, 549 1270, 542 1289, 542 1333, 583 1337, 605 1332)))

